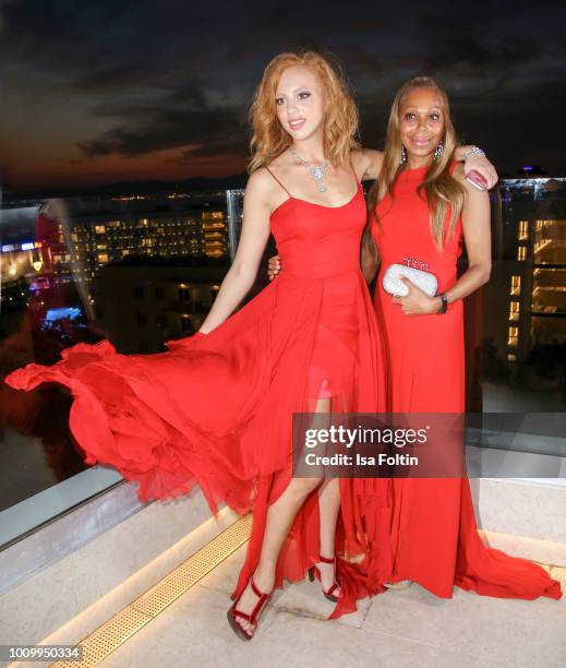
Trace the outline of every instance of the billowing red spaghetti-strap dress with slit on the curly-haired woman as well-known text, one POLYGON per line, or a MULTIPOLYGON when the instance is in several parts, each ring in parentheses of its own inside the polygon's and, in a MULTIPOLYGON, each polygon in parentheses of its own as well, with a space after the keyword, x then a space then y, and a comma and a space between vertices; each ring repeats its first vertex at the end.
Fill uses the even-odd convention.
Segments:
MULTIPOLYGON (((65 385, 72 433, 88 464, 110 464, 140 484, 142 500, 177 497, 198 484, 213 512, 226 501, 253 510, 253 529, 237 596, 256 566, 266 512, 291 478, 293 411, 312 411, 321 387, 333 411, 385 406, 383 343, 360 271, 366 211, 356 195, 339 207, 290 198, 272 215, 285 271, 206 336, 168 342, 168 351, 120 355, 104 341, 79 344, 51 367, 28 365, 13 387, 65 385), (326 381, 323 383, 323 381, 326 381)), ((324 394, 323 394, 324 395, 324 394)), ((342 596, 333 617, 384 591, 387 486, 341 480, 337 551, 342 596)), ((276 585, 304 577, 318 560, 313 492, 281 550, 276 585)))

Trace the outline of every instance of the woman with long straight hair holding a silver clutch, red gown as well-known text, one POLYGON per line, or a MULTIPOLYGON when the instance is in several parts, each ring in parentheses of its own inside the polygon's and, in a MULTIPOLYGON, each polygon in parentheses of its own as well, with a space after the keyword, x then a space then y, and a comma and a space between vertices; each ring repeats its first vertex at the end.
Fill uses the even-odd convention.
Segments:
MULTIPOLYGON (((447 293, 449 305, 438 314, 441 298, 427 297, 410 282, 409 295, 401 299, 392 298, 377 283, 375 309, 385 335, 394 413, 465 410, 462 298, 489 278, 490 211, 487 193, 475 190, 450 163, 455 141, 448 100, 438 84, 424 77, 406 84, 392 108, 381 183, 370 196, 377 216, 371 216, 371 232, 382 272, 406 257, 417 258, 436 275, 438 293, 447 293), (441 219, 441 250, 418 187, 443 170, 460 184, 463 207, 451 230, 450 210, 441 219), (458 279, 463 238, 469 270, 458 279)), ((392 582, 417 581, 445 598, 451 597, 455 584, 487 596, 561 597, 559 583, 543 569, 482 544, 466 477, 397 478, 393 489, 392 582)))

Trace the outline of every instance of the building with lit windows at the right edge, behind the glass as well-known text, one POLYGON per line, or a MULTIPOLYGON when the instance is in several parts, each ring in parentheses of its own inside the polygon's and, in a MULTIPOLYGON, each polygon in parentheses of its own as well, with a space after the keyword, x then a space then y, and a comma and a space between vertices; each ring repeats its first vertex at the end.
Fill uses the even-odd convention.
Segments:
POLYGON ((509 365, 566 345, 566 179, 505 179, 501 257, 484 288, 484 335, 509 365))

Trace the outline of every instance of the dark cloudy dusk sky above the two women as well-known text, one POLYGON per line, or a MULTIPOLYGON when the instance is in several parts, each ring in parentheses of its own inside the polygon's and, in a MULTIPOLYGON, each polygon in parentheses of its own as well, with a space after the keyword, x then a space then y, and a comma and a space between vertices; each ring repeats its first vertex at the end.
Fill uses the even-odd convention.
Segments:
POLYGON ((299 47, 341 63, 370 147, 395 90, 432 74, 501 172, 566 176, 563 2, 0 0, 3 186, 242 172, 253 90, 299 47))

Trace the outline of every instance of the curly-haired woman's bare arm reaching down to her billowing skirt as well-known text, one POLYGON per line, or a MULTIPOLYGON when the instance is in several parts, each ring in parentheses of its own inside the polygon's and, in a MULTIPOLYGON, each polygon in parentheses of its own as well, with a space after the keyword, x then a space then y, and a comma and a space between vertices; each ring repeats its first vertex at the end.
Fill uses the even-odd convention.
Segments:
POLYGON ((248 180, 243 201, 243 225, 240 243, 232 265, 228 270, 218 295, 201 325, 207 334, 236 310, 252 287, 269 238, 269 203, 263 171, 252 174, 248 180))

